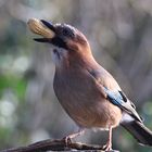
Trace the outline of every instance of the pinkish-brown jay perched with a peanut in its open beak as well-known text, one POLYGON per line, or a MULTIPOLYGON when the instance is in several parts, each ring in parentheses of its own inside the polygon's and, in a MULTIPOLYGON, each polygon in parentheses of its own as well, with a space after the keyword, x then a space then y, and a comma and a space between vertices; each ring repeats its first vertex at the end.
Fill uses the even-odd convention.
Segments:
POLYGON ((75 138, 86 129, 109 130, 105 151, 110 151, 112 130, 121 125, 140 144, 152 145, 152 131, 144 126, 135 104, 114 77, 96 61, 89 41, 80 30, 65 23, 52 24, 37 18, 30 18, 28 26, 42 36, 35 41, 50 45, 55 64, 55 96, 79 127, 66 139, 75 138))

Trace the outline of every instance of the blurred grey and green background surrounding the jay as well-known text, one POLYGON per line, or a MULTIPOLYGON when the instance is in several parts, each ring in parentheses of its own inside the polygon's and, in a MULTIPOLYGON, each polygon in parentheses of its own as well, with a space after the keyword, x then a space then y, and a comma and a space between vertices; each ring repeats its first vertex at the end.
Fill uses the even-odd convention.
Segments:
MULTIPOLYGON (((93 55, 118 80, 152 129, 151 0, 0 0, 0 150, 77 129, 52 88, 48 45, 33 41, 30 17, 68 23, 90 41, 93 55)), ((107 132, 88 130, 78 141, 104 144, 107 132)), ((114 149, 151 152, 122 127, 114 149)))

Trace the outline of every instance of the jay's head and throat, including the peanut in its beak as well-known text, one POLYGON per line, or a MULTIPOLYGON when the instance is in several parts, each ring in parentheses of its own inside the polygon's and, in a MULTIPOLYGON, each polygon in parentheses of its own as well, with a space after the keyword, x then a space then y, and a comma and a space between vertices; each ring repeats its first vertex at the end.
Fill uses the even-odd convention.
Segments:
POLYGON ((38 42, 47 42, 52 46, 53 56, 56 63, 73 62, 92 58, 87 38, 75 27, 67 24, 52 24, 43 20, 31 18, 28 21, 30 30, 41 35, 36 38, 38 42))

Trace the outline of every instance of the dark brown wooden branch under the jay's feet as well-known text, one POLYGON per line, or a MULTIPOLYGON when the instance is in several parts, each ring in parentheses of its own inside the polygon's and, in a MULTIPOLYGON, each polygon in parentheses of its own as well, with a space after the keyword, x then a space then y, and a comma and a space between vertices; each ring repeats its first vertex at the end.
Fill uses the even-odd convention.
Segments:
MULTIPOLYGON (((104 152, 103 147, 90 145, 79 142, 65 142, 62 140, 42 140, 27 147, 13 148, 8 150, 2 150, 0 152, 47 152, 47 151, 90 151, 91 152, 104 152)), ((118 152, 115 150, 109 152, 118 152)))

